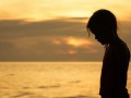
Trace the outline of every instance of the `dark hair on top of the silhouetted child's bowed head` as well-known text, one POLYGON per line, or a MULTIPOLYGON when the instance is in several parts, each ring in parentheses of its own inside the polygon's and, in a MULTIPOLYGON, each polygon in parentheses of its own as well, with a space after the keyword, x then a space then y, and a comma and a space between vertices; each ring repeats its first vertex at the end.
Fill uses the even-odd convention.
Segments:
POLYGON ((86 25, 87 32, 100 27, 107 30, 111 30, 114 35, 117 35, 117 20, 116 16, 108 10, 98 10, 91 17, 86 25))

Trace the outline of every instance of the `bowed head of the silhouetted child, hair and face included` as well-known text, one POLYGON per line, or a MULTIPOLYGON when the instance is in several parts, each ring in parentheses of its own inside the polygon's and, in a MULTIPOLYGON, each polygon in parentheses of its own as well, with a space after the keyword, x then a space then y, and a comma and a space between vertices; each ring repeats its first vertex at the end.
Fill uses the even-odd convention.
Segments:
POLYGON ((91 16, 86 28, 102 45, 108 45, 117 38, 117 20, 108 10, 96 11, 91 16))

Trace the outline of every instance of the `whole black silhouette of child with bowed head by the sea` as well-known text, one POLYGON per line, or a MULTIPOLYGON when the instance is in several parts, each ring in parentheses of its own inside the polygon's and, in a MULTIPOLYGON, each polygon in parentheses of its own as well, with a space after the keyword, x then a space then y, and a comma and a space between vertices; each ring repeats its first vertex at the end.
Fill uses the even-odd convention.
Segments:
POLYGON ((86 28, 106 48, 99 95, 102 98, 129 98, 126 86, 130 51, 118 37, 116 16, 108 10, 98 10, 91 16, 86 28))

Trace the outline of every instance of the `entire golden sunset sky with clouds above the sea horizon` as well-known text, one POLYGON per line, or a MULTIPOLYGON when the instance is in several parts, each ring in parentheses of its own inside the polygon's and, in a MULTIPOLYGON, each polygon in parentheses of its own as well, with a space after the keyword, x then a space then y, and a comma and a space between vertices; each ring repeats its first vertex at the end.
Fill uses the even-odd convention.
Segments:
POLYGON ((118 20, 131 50, 130 0, 1 0, 0 61, 102 61, 104 46, 86 33, 99 9, 118 20))

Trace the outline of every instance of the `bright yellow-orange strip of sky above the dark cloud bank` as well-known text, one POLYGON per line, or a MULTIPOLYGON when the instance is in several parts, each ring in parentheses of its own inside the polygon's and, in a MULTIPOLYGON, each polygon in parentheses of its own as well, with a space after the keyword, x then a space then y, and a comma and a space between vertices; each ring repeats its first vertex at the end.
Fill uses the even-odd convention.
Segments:
POLYGON ((41 21, 56 17, 88 17, 98 9, 130 21, 130 0, 1 0, 0 20, 41 21))

